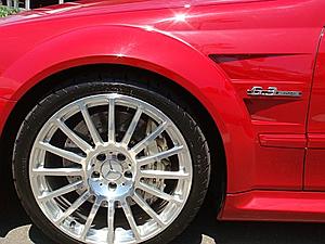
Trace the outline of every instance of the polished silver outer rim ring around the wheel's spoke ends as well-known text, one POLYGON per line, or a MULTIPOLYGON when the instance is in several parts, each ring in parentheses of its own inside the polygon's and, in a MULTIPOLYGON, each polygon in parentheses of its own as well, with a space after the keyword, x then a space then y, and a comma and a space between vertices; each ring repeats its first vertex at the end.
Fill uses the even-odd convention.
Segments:
MULTIPOLYGON (((142 240, 140 242, 143 242, 143 241, 147 241, 147 240, 156 236, 157 234, 161 233, 165 229, 167 229, 179 217, 180 213, 182 211, 183 207, 185 206, 185 204, 186 204, 186 202, 188 200, 190 192, 191 192, 191 189, 192 189, 192 181, 193 181, 192 157, 190 155, 190 150, 187 147, 187 143, 186 143, 184 137, 180 132, 179 128, 172 123, 172 120, 168 116, 166 116, 159 108, 157 108, 157 107, 148 104, 147 102, 142 101, 142 100, 140 100, 138 98, 134 98, 134 97, 130 97, 130 95, 123 95, 123 94, 118 94, 118 93, 103 93, 103 94, 94 94, 94 95, 88 95, 86 98, 80 98, 77 101, 68 103, 65 106, 63 106, 62 108, 60 108, 41 127, 41 129, 40 129, 40 131, 39 131, 39 133, 38 133, 38 136, 37 136, 37 138, 35 140, 35 143, 34 143, 32 149, 31 149, 30 157, 29 157, 29 182, 30 182, 30 187, 31 187, 35 200, 36 200, 38 206, 40 207, 40 209, 42 210, 42 213, 47 216, 47 218, 57 229, 60 229, 61 231, 63 231, 63 233, 72 236, 72 237, 74 237, 74 239, 76 239, 78 241, 84 242, 84 240, 79 240, 79 236, 75 235, 73 232, 67 231, 62 224, 55 223, 54 219, 51 218, 51 216, 49 216, 49 211, 48 211, 48 209, 46 209, 44 204, 41 203, 38 200, 38 196, 40 194, 39 194, 39 189, 36 188, 36 178, 37 177, 34 176, 34 171, 32 171, 35 169, 35 164, 31 164, 31 162, 34 162, 35 155, 37 154, 37 150, 39 150, 39 149, 37 149, 36 143, 38 143, 41 140, 41 138, 44 139, 44 136, 46 136, 46 133, 44 133, 46 129, 44 128, 49 127, 47 129, 47 137, 49 137, 49 136, 52 137, 54 134, 54 132, 56 131, 56 130, 53 130, 53 128, 51 128, 51 126, 50 126, 50 124, 52 123, 52 120, 54 120, 57 117, 63 118, 64 120, 66 120, 69 117, 72 117, 73 115, 79 113, 79 111, 76 110, 76 108, 75 110, 68 110, 68 108, 72 107, 72 106, 77 106, 78 104, 80 104, 80 102, 82 102, 84 104, 91 104, 90 106, 88 106, 88 108, 90 108, 90 107, 94 107, 94 106, 99 106, 99 105, 107 105, 107 103, 103 102, 103 99, 105 99, 107 101, 107 99, 109 99, 109 98, 116 99, 116 102, 117 102, 116 105, 129 106, 131 108, 141 107, 143 110, 143 113, 146 114, 147 116, 150 116, 151 118, 154 118, 155 121, 159 121, 160 119, 168 120, 171 126, 168 127, 168 129, 166 129, 165 131, 169 134, 169 137, 170 137, 171 133, 177 134, 177 139, 184 146, 184 153, 181 153, 181 154, 178 155, 179 156, 179 164, 181 164, 180 157, 182 157, 182 162, 183 163, 187 162, 186 163, 186 171, 190 174, 190 178, 188 178, 188 180, 186 180, 186 182, 183 179, 180 179, 178 181, 178 185, 176 188, 176 189, 179 189, 180 182, 182 184, 186 184, 186 188, 183 191, 183 195, 182 195, 183 196, 183 201, 182 201, 181 205, 178 206, 177 210, 174 211, 176 214, 171 216, 171 218, 168 220, 168 222, 165 224, 165 227, 158 228, 158 229, 156 229, 156 231, 153 231, 153 232, 148 233, 147 235, 142 236, 142 240), (93 103, 90 103, 90 101, 93 101, 93 103), (136 104, 136 105, 134 105, 134 104, 136 104), (32 177, 30 177, 30 176, 32 176, 32 177)), ((43 152, 40 151, 40 152, 38 152, 38 156, 44 157, 46 152, 47 151, 43 151, 43 152)), ((184 165, 182 165, 182 166, 184 166, 184 165)), ((44 180, 46 177, 42 177, 42 178, 43 178, 42 180, 46 181, 44 180)), ((46 182, 42 182, 42 183, 46 183, 46 182)), ((54 198, 53 198, 53 202, 55 202, 54 198)), ((172 206, 169 206, 169 205, 170 205, 170 203, 168 203, 168 205, 167 205, 167 207, 165 207, 164 211, 166 209, 169 210, 169 211, 173 210, 172 206), (168 206, 169 206, 169 208, 168 208, 168 206)), ((155 226, 155 222, 153 221, 153 219, 151 219, 145 224, 148 226, 147 229, 151 229, 150 227, 151 226, 155 226)), ((116 232, 116 229, 115 229, 115 232, 116 232)), ((122 240, 120 240, 120 241, 122 241, 122 240)), ((99 243, 99 240, 87 239, 87 243, 99 243)), ((102 243, 102 242, 100 242, 100 243, 102 243)), ((103 242, 103 243, 106 243, 106 242, 103 242)), ((129 244, 130 243, 131 244, 131 243, 139 243, 139 242, 136 242, 135 240, 131 240, 131 241, 127 240, 127 241, 122 241, 122 242, 119 242, 119 243, 125 243, 125 244, 129 244)))

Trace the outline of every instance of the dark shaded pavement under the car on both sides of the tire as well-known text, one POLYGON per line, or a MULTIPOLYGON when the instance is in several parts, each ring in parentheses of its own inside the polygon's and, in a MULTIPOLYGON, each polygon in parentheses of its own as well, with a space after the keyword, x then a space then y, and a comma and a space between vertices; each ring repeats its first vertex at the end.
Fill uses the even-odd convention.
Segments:
MULTIPOLYGON (((0 243, 11 231, 30 224, 14 194, 2 194, 0 205, 0 243)), ((24 229, 25 230, 25 229, 24 229)), ((34 224, 24 236, 36 244, 50 244, 34 224)), ((28 240, 20 240, 29 243, 28 240)), ((197 218, 172 244, 315 244, 325 243, 325 224, 278 222, 218 222, 208 203, 197 218)))

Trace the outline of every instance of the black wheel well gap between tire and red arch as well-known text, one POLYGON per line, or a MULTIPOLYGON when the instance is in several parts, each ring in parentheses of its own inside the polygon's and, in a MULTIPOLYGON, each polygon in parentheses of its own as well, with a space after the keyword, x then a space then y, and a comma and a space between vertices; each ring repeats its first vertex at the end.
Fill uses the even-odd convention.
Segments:
MULTIPOLYGON (((109 76, 117 80, 121 78, 136 79, 144 82, 144 85, 151 82, 151 87, 154 86, 157 88, 157 91, 159 91, 159 86, 164 84, 164 87, 167 88, 166 90, 170 91, 169 94, 165 95, 168 95, 170 100, 181 98, 181 100, 178 100, 178 103, 181 101, 182 104, 180 105, 199 124, 207 138, 212 166, 209 195, 212 196, 211 200, 214 204, 218 204, 218 207, 222 207, 226 187, 225 154, 220 132, 207 110, 193 94, 174 81, 146 69, 125 65, 103 64, 74 67, 54 74, 32 87, 15 105, 1 134, 0 156, 4 158, 8 164, 2 164, 0 171, 2 172, 1 175, 3 175, 2 179, 5 179, 6 183, 11 181, 11 165, 9 162, 11 162, 12 158, 14 140, 27 114, 49 93, 67 85, 72 85, 70 77, 76 77, 77 75, 79 77, 80 74, 82 74, 84 81, 89 81, 88 77, 90 76, 93 79, 93 74, 96 74, 99 78, 109 76), (56 82, 57 80, 60 80, 60 84, 56 82)), ((73 82, 80 82, 80 79, 74 80, 73 82)))

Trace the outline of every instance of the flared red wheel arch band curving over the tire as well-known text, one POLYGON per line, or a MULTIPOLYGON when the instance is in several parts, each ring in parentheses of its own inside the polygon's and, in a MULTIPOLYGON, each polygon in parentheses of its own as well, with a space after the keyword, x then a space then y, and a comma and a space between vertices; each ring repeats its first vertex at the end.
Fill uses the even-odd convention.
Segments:
POLYGON ((18 101, 37 82, 60 70, 103 63, 152 70, 197 98, 221 132, 227 160, 227 192, 250 189, 253 172, 248 164, 253 162, 253 133, 243 101, 212 61, 168 34, 136 26, 103 25, 50 38, 2 73, 0 98, 18 101))

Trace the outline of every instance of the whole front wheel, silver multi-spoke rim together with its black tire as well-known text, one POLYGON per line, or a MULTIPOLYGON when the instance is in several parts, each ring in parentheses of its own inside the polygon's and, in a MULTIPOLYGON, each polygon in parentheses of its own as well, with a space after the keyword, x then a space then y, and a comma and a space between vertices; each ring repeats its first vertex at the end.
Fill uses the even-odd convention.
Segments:
POLYGON ((166 243, 191 221, 209 178, 192 117, 126 84, 46 98, 16 139, 14 177, 32 220, 62 243, 166 243))

